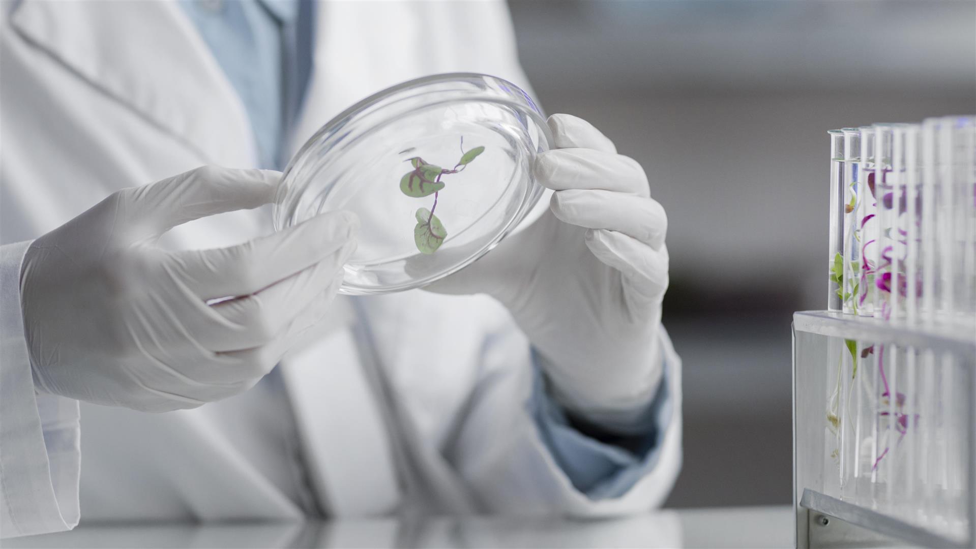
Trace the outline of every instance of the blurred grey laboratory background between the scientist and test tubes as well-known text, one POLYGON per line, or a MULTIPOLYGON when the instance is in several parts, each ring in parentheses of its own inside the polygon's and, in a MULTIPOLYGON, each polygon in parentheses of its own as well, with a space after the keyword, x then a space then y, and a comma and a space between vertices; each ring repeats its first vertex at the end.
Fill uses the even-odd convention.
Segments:
POLYGON ((672 507, 789 504, 791 330, 827 298, 827 131, 976 111, 976 2, 510 1, 549 112, 668 210, 684 360, 672 507))

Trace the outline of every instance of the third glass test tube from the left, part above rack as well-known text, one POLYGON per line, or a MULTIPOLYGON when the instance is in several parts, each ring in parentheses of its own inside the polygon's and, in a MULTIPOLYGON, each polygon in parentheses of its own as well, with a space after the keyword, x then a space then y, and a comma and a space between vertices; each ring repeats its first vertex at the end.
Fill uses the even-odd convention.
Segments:
POLYGON ((874 316, 874 273, 877 267, 877 204, 871 187, 874 184, 874 128, 863 126, 861 130, 861 158, 858 162, 857 235, 861 251, 861 268, 858 278, 858 314, 874 316))

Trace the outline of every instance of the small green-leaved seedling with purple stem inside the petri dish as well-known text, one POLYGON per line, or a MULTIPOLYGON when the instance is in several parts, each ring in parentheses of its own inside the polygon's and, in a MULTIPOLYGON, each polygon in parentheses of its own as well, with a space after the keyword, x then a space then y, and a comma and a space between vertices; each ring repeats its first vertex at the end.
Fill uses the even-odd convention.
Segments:
POLYGON ((454 168, 445 169, 440 166, 428 164, 423 158, 415 156, 408 158, 413 171, 408 172, 400 178, 400 191, 413 198, 424 198, 433 195, 433 205, 429 210, 419 208, 414 214, 417 224, 414 226, 414 244, 422 254, 433 254, 444 243, 447 238, 447 229, 434 211, 437 209, 437 199, 441 189, 446 186, 442 180, 444 176, 458 174, 468 168, 479 154, 484 152, 485 147, 476 146, 465 151, 465 138, 461 138, 461 160, 454 165, 454 168))

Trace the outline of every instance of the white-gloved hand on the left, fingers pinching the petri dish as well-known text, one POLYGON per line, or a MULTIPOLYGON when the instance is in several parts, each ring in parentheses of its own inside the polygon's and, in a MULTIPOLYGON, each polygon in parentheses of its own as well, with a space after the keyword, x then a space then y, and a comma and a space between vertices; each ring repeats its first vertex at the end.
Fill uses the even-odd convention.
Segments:
POLYGON ((279 177, 199 168, 115 192, 34 241, 20 296, 37 389, 165 412, 257 383, 327 311, 357 218, 317 216, 218 250, 153 244, 191 219, 270 202, 279 177))

